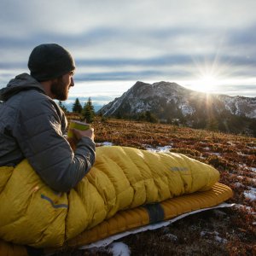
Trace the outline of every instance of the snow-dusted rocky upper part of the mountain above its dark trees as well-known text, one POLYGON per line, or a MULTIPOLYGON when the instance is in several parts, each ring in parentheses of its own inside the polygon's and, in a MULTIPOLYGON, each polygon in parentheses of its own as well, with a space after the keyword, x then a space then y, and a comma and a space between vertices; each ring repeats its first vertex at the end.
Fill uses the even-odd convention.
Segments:
POLYGON ((189 90, 181 85, 169 82, 147 84, 137 82, 122 96, 100 109, 106 116, 135 115, 150 111, 160 118, 167 118, 168 112, 173 118, 178 112, 183 116, 206 112, 228 112, 237 116, 256 118, 256 97, 207 95, 189 90))

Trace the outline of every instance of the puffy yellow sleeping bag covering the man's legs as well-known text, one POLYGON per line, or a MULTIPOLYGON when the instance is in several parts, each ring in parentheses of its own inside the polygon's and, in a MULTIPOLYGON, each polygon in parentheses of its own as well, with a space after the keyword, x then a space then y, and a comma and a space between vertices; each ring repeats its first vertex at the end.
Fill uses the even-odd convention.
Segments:
POLYGON ((219 173, 183 154, 96 148, 96 163, 69 193, 57 193, 23 160, 0 167, 0 239, 61 247, 116 212, 211 189, 219 173))

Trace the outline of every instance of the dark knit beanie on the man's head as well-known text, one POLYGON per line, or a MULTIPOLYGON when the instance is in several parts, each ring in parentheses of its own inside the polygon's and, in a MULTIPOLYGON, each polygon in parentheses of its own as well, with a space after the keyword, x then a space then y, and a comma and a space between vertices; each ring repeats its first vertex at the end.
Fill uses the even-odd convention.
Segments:
POLYGON ((72 55, 58 44, 40 44, 32 50, 27 67, 39 82, 57 79, 75 69, 72 55))

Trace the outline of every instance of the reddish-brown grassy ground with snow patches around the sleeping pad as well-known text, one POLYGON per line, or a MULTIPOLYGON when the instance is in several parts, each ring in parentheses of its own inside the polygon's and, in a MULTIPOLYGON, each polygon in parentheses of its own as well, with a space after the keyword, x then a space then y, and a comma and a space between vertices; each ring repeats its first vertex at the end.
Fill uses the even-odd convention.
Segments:
MULTIPOLYGON (((103 142, 135 148, 169 146, 218 169, 220 182, 234 191, 235 207, 200 212, 154 231, 121 239, 131 255, 256 255, 256 138, 174 125, 96 119, 97 146, 103 142)), ((57 255, 109 255, 105 247, 57 255)))

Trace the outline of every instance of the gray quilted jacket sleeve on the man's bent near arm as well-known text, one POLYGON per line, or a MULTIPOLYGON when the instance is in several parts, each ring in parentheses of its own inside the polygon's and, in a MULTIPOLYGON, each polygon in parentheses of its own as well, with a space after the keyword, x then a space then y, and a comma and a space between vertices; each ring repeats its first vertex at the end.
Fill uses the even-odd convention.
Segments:
POLYGON ((24 97, 20 106, 14 135, 24 157, 51 189, 72 189, 94 164, 95 143, 83 137, 73 152, 62 134, 65 117, 47 96, 24 97))

